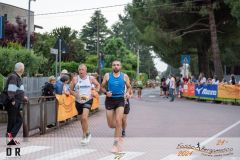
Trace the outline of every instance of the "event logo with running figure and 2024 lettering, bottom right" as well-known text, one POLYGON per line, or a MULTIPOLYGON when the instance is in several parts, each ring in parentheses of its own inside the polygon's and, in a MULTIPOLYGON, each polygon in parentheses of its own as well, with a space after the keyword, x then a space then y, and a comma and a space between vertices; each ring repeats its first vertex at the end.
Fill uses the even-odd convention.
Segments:
POLYGON ((196 145, 179 143, 177 145, 177 156, 191 156, 193 153, 200 153, 208 157, 221 157, 233 155, 233 148, 228 146, 228 141, 219 139, 212 147, 206 147, 197 143, 196 145))

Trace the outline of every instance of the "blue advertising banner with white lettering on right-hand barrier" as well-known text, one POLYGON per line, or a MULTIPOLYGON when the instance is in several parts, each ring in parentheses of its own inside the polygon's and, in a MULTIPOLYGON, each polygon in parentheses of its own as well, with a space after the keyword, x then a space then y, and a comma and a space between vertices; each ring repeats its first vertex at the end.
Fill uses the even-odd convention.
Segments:
POLYGON ((217 98, 218 86, 214 84, 195 85, 195 96, 217 98))

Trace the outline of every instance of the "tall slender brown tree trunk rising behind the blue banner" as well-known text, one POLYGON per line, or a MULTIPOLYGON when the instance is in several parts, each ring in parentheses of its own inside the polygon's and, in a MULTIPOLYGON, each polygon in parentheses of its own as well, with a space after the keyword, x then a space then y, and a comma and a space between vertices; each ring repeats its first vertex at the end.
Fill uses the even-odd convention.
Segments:
POLYGON ((220 49, 218 46, 217 28, 216 28, 214 11, 212 7, 212 0, 208 0, 207 8, 208 8, 208 14, 209 14, 209 26, 210 26, 210 33, 211 33, 211 48, 213 53, 214 71, 218 79, 222 79, 223 68, 222 68, 222 62, 220 59, 220 49))

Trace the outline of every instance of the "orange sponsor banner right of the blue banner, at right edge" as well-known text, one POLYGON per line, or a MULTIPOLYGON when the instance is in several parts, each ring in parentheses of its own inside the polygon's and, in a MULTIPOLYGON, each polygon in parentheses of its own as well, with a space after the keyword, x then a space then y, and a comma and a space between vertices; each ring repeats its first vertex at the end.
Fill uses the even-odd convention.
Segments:
POLYGON ((218 85, 218 98, 240 99, 240 85, 218 85))

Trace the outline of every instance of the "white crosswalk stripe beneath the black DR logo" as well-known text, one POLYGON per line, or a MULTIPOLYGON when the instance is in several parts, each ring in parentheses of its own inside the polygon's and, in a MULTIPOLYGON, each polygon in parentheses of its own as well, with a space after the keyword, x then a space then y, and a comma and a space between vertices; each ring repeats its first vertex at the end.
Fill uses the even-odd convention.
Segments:
MULTIPOLYGON (((7 147, 6 147, 7 148, 7 147)), ((9 146, 8 148, 12 148, 12 154, 15 155, 15 149, 14 148, 20 148, 20 156, 23 156, 23 155, 26 155, 26 154, 30 154, 30 153, 34 153, 34 152, 38 152, 38 151, 42 151, 42 150, 45 150, 45 149, 48 149, 50 147, 47 147, 47 146, 28 146, 28 147, 23 147, 21 148, 20 146, 9 146)), ((13 157, 13 156, 11 156, 13 157)), ((4 160, 8 158, 6 156, 6 151, 5 152, 1 152, 0 153, 0 160, 4 160)), ((17 157, 16 157, 17 158, 17 157)))

